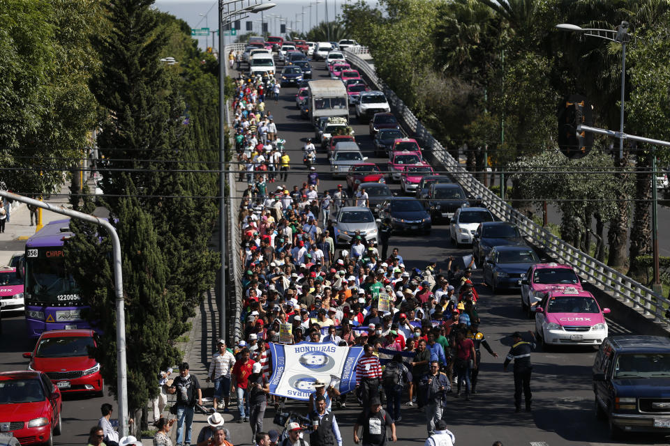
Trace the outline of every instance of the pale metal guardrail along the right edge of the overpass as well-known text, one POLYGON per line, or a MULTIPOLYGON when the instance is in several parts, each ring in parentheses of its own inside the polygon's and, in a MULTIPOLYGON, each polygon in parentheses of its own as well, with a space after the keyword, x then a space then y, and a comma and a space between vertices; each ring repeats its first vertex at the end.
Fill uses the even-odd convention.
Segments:
POLYGON ((573 266, 584 281, 611 293, 616 300, 623 302, 628 307, 632 307, 655 323, 659 323, 664 327, 668 326, 670 318, 666 316, 666 309, 670 307, 670 300, 654 293, 648 287, 606 266, 604 263, 597 261, 592 256, 581 252, 576 247, 565 243, 565 241, 544 229, 543 226, 536 224, 533 220, 526 217, 526 215, 520 213, 519 210, 509 206, 498 195, 491 192, 488 187, 469 174, 464 167, 461 167, 459 162, 454 160, 454 157, 449 154, 442 144, 433 138, 421 121, 398 98, 396 93, 390 90, 382 79, 377 76, 374 68, 364 59, 357 56, 357 54, 364 53, 352 52, 349 49, 345 49, 344 53, 347 61, 353 67, 357 68, 359 72, 364 73, 376 89, 384 91, 389 105, 396 116, 417 137, 422 139, 424 147, 431 151, 435 160, 438 160, 445 167, 445 170, 458 174, 456 175, 456 179, 459 183, 470 194, 481 196, 493 215, 496 215, 500 220, 519 226, 519 230, 526 235, 531 243, 541 247, 554 258, 573 266))

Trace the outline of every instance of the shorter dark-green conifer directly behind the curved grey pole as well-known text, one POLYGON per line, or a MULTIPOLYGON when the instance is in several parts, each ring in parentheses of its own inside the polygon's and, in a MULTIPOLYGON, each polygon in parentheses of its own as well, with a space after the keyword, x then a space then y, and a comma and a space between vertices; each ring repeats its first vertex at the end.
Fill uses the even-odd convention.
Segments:
MULTIPOLYGON (((131 180, 132 181, 132 180, 131 180)), ((132 196, 119 200, 114 226, 121 240, 124 299, 126 307, 126 362, 128 371, 128 406, 142 408, 148 399, 156 397, 156 376, 161 367, 180 359, 179 351, 170 345, 170 305, 165 293, 168 266, 158 246, 153 218, 132 196)), ((90 199, 83 212, 94 208, 90 199)), ((110 238, 100 226, 73 220, 75 236, 65 245, 66 267, 80 284, 82 296, 90 305, 87 318, 95 321, 101 332, 101 344, 94 352, 101 364, 101 374, 112 394, 117 387, 116 298, 110 238)))

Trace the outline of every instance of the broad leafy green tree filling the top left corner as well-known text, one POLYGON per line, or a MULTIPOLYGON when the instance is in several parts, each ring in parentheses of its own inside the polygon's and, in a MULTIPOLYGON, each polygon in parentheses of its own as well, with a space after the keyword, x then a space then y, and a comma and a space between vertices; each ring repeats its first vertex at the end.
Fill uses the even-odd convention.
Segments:
POLYGON ((40 195, 83 155, 96 105, 87 89, 97 65, 89 36, 98 1, 0 4, 0 162, 4 187, 40 195))

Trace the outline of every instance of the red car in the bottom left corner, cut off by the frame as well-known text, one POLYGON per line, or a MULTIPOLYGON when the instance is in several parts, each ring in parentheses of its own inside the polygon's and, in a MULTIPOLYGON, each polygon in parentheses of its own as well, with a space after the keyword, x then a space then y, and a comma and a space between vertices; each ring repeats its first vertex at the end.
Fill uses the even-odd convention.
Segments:
POLYGON ((40 371, 0 373, 0 432, 21 445, 53 444, 61 434, 61 392, 40 371))

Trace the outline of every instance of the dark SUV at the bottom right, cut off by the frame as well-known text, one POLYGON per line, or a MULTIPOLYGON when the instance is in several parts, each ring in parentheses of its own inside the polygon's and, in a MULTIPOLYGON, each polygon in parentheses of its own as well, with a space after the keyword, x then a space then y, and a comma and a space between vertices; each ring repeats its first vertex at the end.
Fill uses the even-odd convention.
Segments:
POLYGON ((604 339, 593 363, 595 415, 622 432, 670 432, 670 339, 604 339))

